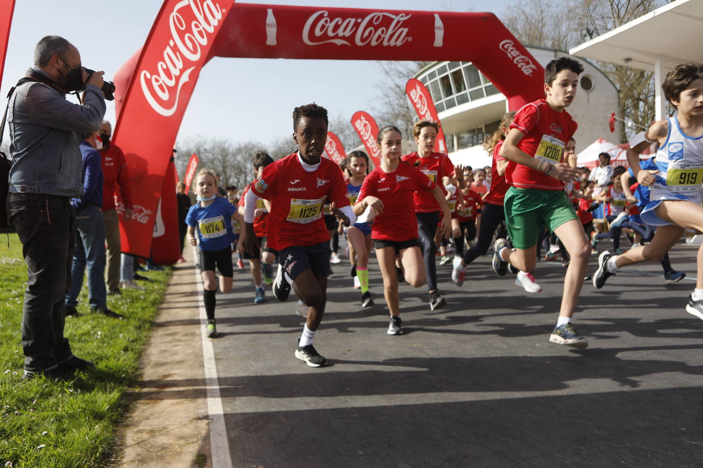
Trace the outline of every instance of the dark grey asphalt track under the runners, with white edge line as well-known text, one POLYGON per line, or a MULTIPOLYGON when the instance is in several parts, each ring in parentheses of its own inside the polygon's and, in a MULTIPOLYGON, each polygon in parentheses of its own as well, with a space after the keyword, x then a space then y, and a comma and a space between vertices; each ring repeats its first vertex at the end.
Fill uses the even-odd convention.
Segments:
MULTIPOLYGON (((233 293, 217 298, 218 338, 201 341, 198 311, 188 323, 160 319, 198 328, 202 352, 190 362, 202 379, 146 374, 136 399, 207 405, 198 451, 214 467, 700 467, 703 322, 684 310, 696 250, 671 251, 689 275, 673 286, 658 263, 601 290, 586 283, 574 321, 585 350, 548 342, 560 262, 538 262, 535 294, 496 276, 489 256, 461 288, 451 266, 438 266, 448 305, 431 312, 426 288, 401 286, 404 335, 389 336, 375 258, 376 305, 363 310, 343 258, 315 337, 326 368, 293 356, 304 323, 295 295, 281 303, 269 288, 254 305, 248 270, 236 269, 233 293)), ((188 272, 180 294, 192 304, 193 262, 177 269, 188 272)))

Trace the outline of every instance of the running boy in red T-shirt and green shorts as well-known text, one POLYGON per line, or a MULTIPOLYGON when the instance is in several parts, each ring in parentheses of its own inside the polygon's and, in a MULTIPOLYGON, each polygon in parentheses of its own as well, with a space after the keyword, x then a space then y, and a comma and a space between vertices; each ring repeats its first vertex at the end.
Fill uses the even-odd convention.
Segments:
POLYGON ((505 239, 498 239, 493 260, 494 270, 501 276, 507 272, 508 263, 529 273, 536 264, 537 239, 543 225, 562 240, 571 261, 559 318, 549 340, 576 348, 588 346, 571 321, 591 246, 564 191, 564 182, 576 180, 578 171, 562 159, 577 127, 565 108, 574 100, 581 72, 583 66, 572 58, 552 60, 544 71, 546 98, 530 102, 515 114, 500 154, 510 161, 511 170, 506 173, 512 187, 505 194, 505 222, 516 250, 510 250, 505 239))

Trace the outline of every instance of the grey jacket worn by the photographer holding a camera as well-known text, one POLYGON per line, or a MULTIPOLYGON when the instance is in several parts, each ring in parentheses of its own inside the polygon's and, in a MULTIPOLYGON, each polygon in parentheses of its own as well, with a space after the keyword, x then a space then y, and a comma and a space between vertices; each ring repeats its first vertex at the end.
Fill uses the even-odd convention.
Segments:
POLYGON ((100 128, 105 98, 93 85, 86 86, 83 105, 69 102, 65 96, 36 81, 15 89, 7 119, 12 160, 10 192, 82 196, 79 145, 84 134, 100 128))

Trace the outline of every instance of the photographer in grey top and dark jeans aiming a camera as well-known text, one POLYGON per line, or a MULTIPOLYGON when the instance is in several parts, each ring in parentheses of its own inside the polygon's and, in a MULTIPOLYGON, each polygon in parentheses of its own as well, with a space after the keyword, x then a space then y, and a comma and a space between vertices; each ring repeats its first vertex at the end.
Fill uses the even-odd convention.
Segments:
POLYGON ((27 263, 22 309, 27 379, 70 380, 75 370, 91 365, 73 356, 63 336, 64 297, 76 232, 70 200, 83 195, 79 144, 103 121, 102 75, 86 73, 68 41, 46 36, 34 50, 34 67, 9 102, 12 167, 6 207, 27 263), (82 90, 82 104, 66 100, 66 93, 82 90))

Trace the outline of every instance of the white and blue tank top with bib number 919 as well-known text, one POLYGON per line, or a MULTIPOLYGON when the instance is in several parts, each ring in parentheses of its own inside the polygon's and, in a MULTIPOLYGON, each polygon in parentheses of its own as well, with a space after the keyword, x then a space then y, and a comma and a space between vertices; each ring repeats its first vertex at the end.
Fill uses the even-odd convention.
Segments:
POLYGON ((690 200, 701 202, 703 184, 703 135, 692 138, 685 135, 676 116, 669 117, 669 135, 657 148, 656 181, 652 185, 650 201, 690 200))

